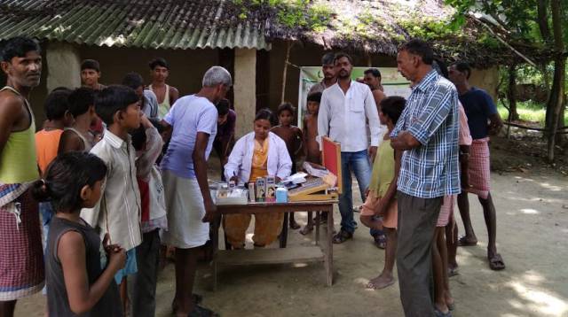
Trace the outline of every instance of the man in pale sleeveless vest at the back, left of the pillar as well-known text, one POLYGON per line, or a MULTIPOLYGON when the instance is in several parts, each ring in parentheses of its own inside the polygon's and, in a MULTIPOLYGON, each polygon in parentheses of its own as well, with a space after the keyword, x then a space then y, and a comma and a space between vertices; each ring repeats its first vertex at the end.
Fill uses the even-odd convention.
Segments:
POLYGON ((170 75, 170 66, 165 59, 154 58, 148 66, 150 66, 150 77, 152 77, 152 83, 150 83, 148 89, 154 91, 158 98, 158 117, 162 119, 176 102, 179 91, 177 91, 177 88, 166 84, 166 79, 170 75))

